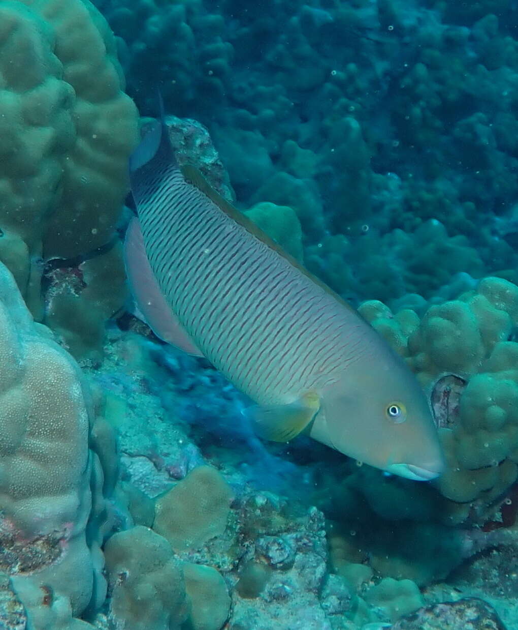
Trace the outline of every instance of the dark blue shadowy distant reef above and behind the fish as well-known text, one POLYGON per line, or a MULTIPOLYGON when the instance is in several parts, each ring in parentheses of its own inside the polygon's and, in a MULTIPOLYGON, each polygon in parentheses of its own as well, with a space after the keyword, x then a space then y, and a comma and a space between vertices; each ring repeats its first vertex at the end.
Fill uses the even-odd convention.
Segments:
POLYGON ((141 110, 159 83, 207 125, 240 202, 295 209, 305 260, 334 289, 390 303, 456 272, 516 279, 505 3, 97 4, 141 110))

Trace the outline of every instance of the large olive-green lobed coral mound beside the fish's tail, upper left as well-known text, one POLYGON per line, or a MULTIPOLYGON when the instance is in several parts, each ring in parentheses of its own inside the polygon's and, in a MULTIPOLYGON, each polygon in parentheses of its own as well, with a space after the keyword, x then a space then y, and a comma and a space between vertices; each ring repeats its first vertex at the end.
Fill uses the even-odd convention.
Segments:
POLYGON ((88 0, 0 0, 0 260, 40 315, 40 258, 110 241, 137 112, 88 0))

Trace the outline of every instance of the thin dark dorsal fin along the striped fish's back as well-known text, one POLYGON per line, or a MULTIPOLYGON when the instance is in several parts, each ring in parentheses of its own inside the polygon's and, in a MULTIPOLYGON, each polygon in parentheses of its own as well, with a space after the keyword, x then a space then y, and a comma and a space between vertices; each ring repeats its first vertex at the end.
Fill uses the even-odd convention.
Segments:
POLYGON ((266 234, 266 232, 264 232, 259 226, 257 226, 253 221, 246 217, 242 212, 237 210, 237 208, 235 208, 232 203, 228 202, 224 197, 222 197, 220 193, 215 191, 214 188, 210 185, 210 183, 208 183, 205 177, 201 175, 200 171, 198 171, 195 166, 192 166, 191 164, 184 164, 184 166, 180 167, 180 170, 182 172, 182 175, 184 176, 185 181, 198 188, 198 190, 206 195, 206 197, 208 197, 211 202, 215 203, 218 208, 222 210, 222 212, 225 212, 228 217, 234 219, 234 221, 240 226, 244 227, 247 232, 250 232, 250 234, 259 239, 259 241, 262 241, 262 243, 276 251, 280 256, 283 256, 283 258, 285 258, 290 263, 290 265, 294 266, 306 277, 310 278, 315 284, 324 289, 326 293, 332 295, 335 300, 340 302, 340 304, 345 306, 350 311, 356 313, 356 315, 361 318, 359 312, 356 311, 356 309, 354 309, 351 304, 349 304, 349 302, 346 302, 340 295, 335 293, 334 290, 330 289, 330 287, 322 282, 322 280, 319 280, 311 272, 308 272, 308 270, 303 267, 299 263, 299 261, 296 260, 296 258, 290 256, 290 254, 284 251, 284 249, 281 248, 278 243, 276 243, 266 234))

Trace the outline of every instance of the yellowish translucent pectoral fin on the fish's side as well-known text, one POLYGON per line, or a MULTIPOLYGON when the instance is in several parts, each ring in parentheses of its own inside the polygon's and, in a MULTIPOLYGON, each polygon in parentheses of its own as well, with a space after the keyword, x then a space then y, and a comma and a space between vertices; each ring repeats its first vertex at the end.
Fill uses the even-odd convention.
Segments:
POLYGON ((266 440, 289 442, 310 424, 320 409, 318 394, 308 392, 295 403, 272 407, 251 407, 256 431, 266 440))

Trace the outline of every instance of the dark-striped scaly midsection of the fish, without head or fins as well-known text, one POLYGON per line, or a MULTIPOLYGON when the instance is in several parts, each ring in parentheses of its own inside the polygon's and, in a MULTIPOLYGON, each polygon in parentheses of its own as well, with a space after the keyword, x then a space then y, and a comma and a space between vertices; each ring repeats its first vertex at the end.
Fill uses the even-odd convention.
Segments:
MULTIPOLYGON (((210 362, 259 404, 322 391, 369 327, 169 166, 138 217, 160 289, 210 362), (157 212, 160 209, 160 212, 157 212)), ((370 333, 370 334, 369 334, 370 333)))

